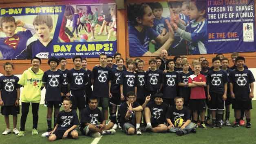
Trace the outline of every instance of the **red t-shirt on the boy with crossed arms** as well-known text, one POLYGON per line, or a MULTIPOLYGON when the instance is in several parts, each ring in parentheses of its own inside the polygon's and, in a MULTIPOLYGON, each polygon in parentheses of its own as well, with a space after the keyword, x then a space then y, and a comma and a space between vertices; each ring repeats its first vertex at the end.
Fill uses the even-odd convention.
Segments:
MULTIPOLYGON (((195 82, 206 82, 204 75, 190 75, 188 78, 188 83, 192 84, 192 81, 195 82)), ((205 99, 205 89, 203 86, 196 86, 190 89, 190 99, 205 99)))

